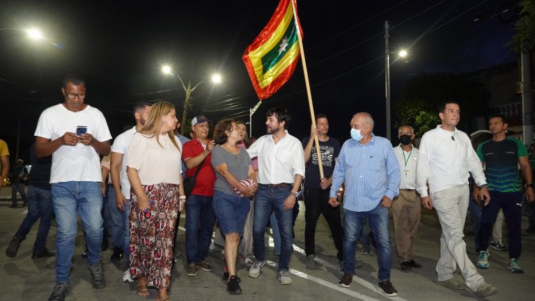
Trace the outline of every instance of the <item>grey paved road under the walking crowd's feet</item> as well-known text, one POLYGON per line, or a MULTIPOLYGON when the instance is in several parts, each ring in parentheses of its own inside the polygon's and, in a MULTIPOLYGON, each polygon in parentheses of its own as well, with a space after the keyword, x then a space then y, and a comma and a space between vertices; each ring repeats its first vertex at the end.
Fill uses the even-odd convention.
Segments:
MULTIPOLYGON (((3 187, 0 196, 10 196, 10 189, 3 187)), ((55 258, 32 259, 31 249, 36 236, 37 225, 26 238, 15 258, 5 255, 6 247, 13 233, 22 222, 25 208, 8 208, 10 200, 0 199, 0 300, 47 300, 54 286, 55 258)), ((228 295, 224 281, 222 281, 223 261, 219 257, 220 249, 210 251, 208 261, 214 266, 212 272, 199 270, 196 277, 185 275, 185 236, 183 225, 184 215, 180 219, 180 230, 176 242, 178 262, 173 268, 173 279, 169 293, 172 300, 485 300, 476 298, 470 291, 452 291, 437 286, 435 265, 439 256, 440 225, 429 211, 423 211, 422 222, 417 240, 416 261, 424 268, 403 272, 395 256, 395 246, 392 254, 391 281, 399 292, 399 297, 387 298, 378 288, 377 256, 362 256, 360 247, 357 258, 364 261, 364 266, 357 269, 350 288, 340 288, 337 284, 341 277, 339 263, 336 260, 336 249, 332 243, 325 219, 320 217, 316 231, 316 256, 320 263, 320 270, 307 270, 304 256, 304 206, 295 224, 294 252, 290 261, 293 283, 281 286, 275 274, 278 257, 273 255, 273 247, 267 247, 268 264, 262 269, 258 279, 248 277, 244 266, 238 265, 238 276, 242 279, 242 295, 228 295)), ((525 229, 527 224, 523 224, 525 229)), ((469 229, 471 227, 467 227, 469 229)), ((84 238, 79 228, 75 240, 75 252, 72 257, 73 268, 70 277, 73 290, 66 300, 143 300, 136 295, 134 284, 121 282, 124 267, 111 263, 111 249, 102 252, 102 263, 107 279, 107 286, 95 290, 91 286, 91 277, 86 268, 86 260, 81 254, 84 252, 84 238)), ((390 231, 392 233, 393 226, 390 231)), ((504 234, 506 232, 504 231, 504 234)), ((47 241, 47 247, 54 251, 54 237, 56 228, 52 226, 47 241)), ((393 235, 391 235, 393 237, 393 235)), ((522 236, 523 254, 520 259, 525 274, 512 274, 506 270, 507 253, 490 251, 490 268, 479 270, 486 281, 495 284, 498 293, 487 300, 533 300, 535 293, 535 236, 522 236)), ((476 261, 474 254, 474 236, 466 236, 467 250, 472 262, 476 261)), ((266 243, 267 243, 266 235, 266 243)), ((393 242, 393 245, 394 242, 393 242)), ((458 276, 459 277, 459 276, 458 276)), ((150 290, 148 299, 155 299, 156 291, 150 290)))

